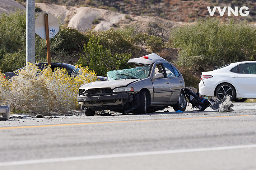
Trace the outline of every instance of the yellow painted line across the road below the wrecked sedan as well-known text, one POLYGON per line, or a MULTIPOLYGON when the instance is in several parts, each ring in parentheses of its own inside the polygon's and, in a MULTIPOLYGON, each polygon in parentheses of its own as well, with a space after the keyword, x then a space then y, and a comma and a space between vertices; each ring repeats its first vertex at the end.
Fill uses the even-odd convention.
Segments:
POLYGON ((74 124, 55 124, 55 125, 36 125, 36 126, 11 126, 11 127, 0 127, 0 130, 4 130, 4 129, 24 129, 24 128, 33 128, 33 127, 72 126, 72 125, 90 125, 90 124, 105 124, 105 123, 136 122, 136 121, 178 120, 178 119, 201 119, 201 118, 238 117, 238 116, 256 116, 256 115, 211 116, 211 117, 187 117, 187 118, 149 119, 149 120, 125 120, 125 121, 106 121, 106 122, 90 122, 90 123, 74 123, 74 124))

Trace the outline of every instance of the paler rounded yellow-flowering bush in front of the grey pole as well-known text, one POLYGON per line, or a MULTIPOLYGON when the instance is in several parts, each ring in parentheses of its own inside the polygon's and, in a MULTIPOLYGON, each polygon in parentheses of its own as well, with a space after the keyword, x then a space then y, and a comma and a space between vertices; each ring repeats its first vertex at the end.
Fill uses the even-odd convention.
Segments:
POLYGON ((29 64, 11 78, 11 108, 29 112, 48 112, 55 106, 56 96, 40 78, 41 70, 29 64))

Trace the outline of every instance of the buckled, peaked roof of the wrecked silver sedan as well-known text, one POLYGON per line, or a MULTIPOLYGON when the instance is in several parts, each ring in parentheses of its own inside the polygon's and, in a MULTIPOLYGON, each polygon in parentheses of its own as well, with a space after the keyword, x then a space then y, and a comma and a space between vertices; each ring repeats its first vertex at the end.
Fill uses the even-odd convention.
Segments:
POLYGON ((152 53, 149 55, 145 55, 143 57, 139 57, 139 58, 135 58, 135 59, 130 59, 128 61, 128 63, 130 64, 143 64, 143 65, 150 65, 154 62, 157 61, 166 61, 165 59, 163 59, 162 57, 160 57, 159 55, 152 53), (146 59, 148 57, 148 59, 146 59))

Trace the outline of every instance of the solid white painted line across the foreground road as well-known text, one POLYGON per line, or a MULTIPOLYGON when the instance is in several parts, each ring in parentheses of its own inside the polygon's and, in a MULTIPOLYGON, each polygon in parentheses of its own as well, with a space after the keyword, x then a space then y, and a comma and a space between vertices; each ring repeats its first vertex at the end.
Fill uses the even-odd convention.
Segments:
POLYGON ((243 148, 251 149, 252 147, 256 147, 256 145, 205 147, 205 148, 195 148, 195 149, 135 152, 135 153, 126 153, 126 154, 109 154, 109 155, 94 155, 94 156, 61 157, 61 158, 53 158, 53 159, 24 160, 24 161, 0 162, 0 166, 40 164, 40 163, 64 162, 64 161, 79 161, 79 160, 104 159, 104 158, 129 157, 129 156, 176 154, 176 153, 185 153, 185 152, 201 152, 201 151, 215 151, 215 150, 228 150, 228 149, 243 149, 243 148))

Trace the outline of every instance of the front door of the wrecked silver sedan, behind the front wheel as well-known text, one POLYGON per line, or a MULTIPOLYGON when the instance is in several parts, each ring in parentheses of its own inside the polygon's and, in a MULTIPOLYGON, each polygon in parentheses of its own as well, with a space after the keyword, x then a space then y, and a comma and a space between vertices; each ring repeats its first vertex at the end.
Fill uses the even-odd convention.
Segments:
MULTIPOLYGON (((163 72, 163 65, 157 64, 154 68, 153 75, 163 72)), ((166 77, 152 80, 154 88, 154 99, 153 102, 169 102, 171 99, 171 88, 169 80, 166 77)))

